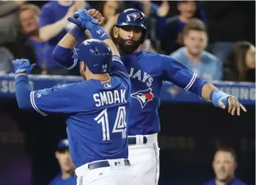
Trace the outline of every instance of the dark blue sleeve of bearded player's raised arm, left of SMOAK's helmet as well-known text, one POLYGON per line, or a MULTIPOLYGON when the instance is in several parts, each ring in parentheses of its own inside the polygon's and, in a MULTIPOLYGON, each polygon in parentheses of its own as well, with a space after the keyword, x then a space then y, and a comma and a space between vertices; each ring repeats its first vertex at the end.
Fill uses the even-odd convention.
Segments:
POLYGON ((71 70, 78 65, 78 60, 73 57, 77 53, 77 49, 68 49, 57 45, 53 50, 53 59, 65 69, 71 70))

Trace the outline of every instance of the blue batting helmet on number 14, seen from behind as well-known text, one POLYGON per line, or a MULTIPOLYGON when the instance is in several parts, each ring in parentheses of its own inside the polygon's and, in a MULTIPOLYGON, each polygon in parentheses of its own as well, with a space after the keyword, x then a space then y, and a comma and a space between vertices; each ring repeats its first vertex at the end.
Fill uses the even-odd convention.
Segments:
POLYGON ((75 59, 82 60, 94 74, 110 71, 112 52, 107 43, 98 39, 88 39, 82 42, 75 54, 75 59))

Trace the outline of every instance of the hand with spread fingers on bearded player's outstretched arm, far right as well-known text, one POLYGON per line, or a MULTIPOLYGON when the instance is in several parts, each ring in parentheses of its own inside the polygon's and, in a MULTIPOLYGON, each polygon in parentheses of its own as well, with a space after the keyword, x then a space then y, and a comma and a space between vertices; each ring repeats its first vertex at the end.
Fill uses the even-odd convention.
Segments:
POLYGON ((240 111, 246 112, 246 108, 243 107, 243 105, 238 102, 238 99, 235 97, 226 97, 225 99, 222 99, 219 101, 219 105, 221 108, 226 109, 228 108, 228 111, 232 116, 235 116, 237 114, 240 116, 240 111))

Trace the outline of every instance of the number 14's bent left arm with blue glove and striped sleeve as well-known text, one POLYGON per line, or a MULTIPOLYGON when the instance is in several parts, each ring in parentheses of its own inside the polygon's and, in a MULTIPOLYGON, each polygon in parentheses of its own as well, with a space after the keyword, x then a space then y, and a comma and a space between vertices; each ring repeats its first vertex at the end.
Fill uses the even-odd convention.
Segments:
POLYGON ((75 98, 78 98, 75 92, 78 91, 78 83, 32 91, 27 77, 33 68, 30 66, 30 61, 14 60, 13 66, 16 71, 15 87, 18 108, 34 109, 42 116, 47 116, 48 113, 70 114, 77 111, 79 103, 75 102, 75 98))

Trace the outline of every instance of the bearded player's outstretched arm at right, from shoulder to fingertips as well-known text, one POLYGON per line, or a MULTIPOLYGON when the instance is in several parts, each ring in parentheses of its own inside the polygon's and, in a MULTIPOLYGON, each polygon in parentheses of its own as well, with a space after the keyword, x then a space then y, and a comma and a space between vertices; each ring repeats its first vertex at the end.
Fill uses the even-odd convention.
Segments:
POLYGON ((198 77, 197 74, 187 69, 186 66, 183 66, 178 61, 164 55, 162 55, 161 59, 163 80, 172 82, 185 91, 198 94, 198 96, 202 97, 204 100, 212 102, 216 107, 223 109, 228 108, 229 113, 233 116, 235 114, 240 116, 240 108, 246 112, 246 108, 244 108, 235 97, 223 91, 219 91, 215 85, 198 77))

